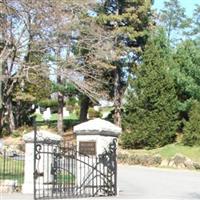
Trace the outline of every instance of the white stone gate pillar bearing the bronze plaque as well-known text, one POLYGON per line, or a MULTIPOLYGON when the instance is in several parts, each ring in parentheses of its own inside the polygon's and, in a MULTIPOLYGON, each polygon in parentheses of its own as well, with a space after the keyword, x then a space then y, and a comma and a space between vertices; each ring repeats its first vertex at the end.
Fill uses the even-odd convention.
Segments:
MULTIPOLYGON (((81 187, 83 184, 88 184, 87 187, 92 188, 92 185, 96 184, 101 187, 100 184, 103 182, 101 180, 103 176, 100 175, 100 171, 101 169, 106 170, 108 168, 105 168, 103 163, 97 164, 99 162, 99 156, 105 153, 105 151, 109 151, 110 144, 114 139, 117 139, 121 133, 121 128, 111 122, 96 118, 75 126, 74 133, 76 134, 77 140, 77 157, 80 160, 77 163, 77 185, 81 187), (87 155, 88 158, 84 155, 87 155), (85 167, 85 162, 88 162, 92 167, 85 167), (95 168, 96 174, 94 175, 92 170, 95 168), (92 177, 88 177, 90 174, 98 176, 92 182, 92 185, 89 182, 92 177)), ((108 172, 102 171, 102 173, 108 172)), ((88 191, 88 193, 91 192, 88 191)))

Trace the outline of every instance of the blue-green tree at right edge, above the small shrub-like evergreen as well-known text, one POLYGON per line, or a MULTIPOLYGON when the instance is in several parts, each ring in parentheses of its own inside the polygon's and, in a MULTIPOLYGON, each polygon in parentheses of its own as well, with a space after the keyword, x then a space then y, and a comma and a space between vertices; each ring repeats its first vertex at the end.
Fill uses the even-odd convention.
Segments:
POLYGON ((176 84, 180 120, 188 120, 193 100, 200 101, 200 42, 186 40, 173 55, 172 77, 176 84))

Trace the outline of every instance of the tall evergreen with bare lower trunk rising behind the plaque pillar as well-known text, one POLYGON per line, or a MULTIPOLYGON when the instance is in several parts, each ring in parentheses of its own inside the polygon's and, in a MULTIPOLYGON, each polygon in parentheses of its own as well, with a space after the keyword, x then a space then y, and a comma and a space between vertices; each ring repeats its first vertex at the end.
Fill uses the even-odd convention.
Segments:
POLYGON ((99 24, 113 40, 114 56, 110 63, 114 66, 114 121, 119 126, 126 76, 139 60, 152 27, 151 5, 151 0, 106 0, 98 16, 99 24))

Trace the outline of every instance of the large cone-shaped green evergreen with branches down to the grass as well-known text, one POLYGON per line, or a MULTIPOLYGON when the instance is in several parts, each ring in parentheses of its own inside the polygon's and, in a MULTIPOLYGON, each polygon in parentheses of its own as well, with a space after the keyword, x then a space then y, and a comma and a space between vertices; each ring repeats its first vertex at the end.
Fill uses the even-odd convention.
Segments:
POLYGON ((154 148, 174 141, 177 100, 169 65, 166 37, 155 32, 136 78, 130 81, 121 138, 124 148, 154 148))

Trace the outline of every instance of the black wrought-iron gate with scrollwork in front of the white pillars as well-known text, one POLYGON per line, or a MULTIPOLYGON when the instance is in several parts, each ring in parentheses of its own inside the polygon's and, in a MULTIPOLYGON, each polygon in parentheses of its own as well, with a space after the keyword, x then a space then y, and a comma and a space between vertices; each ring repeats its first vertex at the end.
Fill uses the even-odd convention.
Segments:
POLYGON ((61 199, 117 194, 116 140, 98 156, 83 155, 73 143, 36 140, 34 198, 61 199))

